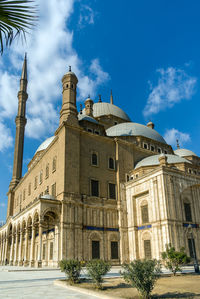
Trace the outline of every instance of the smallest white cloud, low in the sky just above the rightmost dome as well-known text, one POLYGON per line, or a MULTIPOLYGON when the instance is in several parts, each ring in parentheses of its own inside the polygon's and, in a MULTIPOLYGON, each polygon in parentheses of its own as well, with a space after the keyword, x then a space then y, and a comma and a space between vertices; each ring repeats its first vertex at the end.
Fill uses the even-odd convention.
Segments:
POLYGON ((179 145, 182 147, 185 143, 191 140, 190 135, 188 133, 182 133, 177 129, 167 129, 164 135, 164 139, 166 142, 172 146, 176 146, 177 140, 179 145))

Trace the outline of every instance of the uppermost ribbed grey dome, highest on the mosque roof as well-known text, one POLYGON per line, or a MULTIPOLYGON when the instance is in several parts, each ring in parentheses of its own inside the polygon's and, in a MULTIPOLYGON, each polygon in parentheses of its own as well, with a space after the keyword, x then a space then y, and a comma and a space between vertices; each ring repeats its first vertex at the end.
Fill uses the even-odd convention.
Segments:
MULTIPOLYGON (((85 114, 85 109, 83 109, 83 114, 85 114)), ((103 115, 114 115, 126 121, 130 121, 128 115, 121 108, 111 103, 105 102, 94 103, 93 115, 94 117, 99 117, 103 115)))

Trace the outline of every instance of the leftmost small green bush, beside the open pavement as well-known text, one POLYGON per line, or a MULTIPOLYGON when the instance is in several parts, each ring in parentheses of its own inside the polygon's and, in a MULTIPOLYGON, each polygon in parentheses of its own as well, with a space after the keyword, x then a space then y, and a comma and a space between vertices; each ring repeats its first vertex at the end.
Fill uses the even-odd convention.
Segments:
POLYGON ((80 272, 82 263, 78 260, 62 260, 60 261, 60 269, 65 272, 67 280, 70 284, 78 283, 80 278, 80 272))

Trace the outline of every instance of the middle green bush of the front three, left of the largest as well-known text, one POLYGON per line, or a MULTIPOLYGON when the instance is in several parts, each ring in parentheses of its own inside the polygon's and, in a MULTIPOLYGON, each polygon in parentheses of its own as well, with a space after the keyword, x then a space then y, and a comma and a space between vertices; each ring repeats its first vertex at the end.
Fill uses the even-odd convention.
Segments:
POLYGON ((92 260, 86 265, 88 275, 94 281, 98 289, 102 289, 103 276, 110 271, 111 264, 103 260, 92 260))

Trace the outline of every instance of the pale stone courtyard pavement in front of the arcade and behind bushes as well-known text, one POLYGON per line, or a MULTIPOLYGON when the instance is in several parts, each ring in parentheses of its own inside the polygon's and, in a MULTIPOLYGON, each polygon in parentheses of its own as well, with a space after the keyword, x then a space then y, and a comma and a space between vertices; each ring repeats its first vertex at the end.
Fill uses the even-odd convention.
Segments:
MULTIPOLYGON (((119 276, 121 267, 112 267, 107 277, 119 276)), ((194 267, 183 268, 183 272, 194 272, 194 267)), ((164 274, 169 273, 163 270, 164 274)), ((84 271, 83 274, 84 275, 84 271)), ((58 269, 33 269, 0 266, 0 299, 95 299, 96 296, 81 294, 53 284, 56 279, 64 279, 58 269)))

